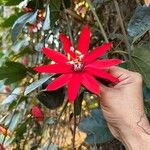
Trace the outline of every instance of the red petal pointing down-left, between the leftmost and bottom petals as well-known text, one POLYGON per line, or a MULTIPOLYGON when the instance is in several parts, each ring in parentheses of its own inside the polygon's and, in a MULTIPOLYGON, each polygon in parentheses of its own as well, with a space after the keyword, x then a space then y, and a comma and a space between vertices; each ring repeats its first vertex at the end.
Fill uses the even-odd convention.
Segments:
POLYGON ((63 74, 59 76, 47 86, 47 90, 53 91, 63 87, 70 80, 71 76, 72 74, 63 74))

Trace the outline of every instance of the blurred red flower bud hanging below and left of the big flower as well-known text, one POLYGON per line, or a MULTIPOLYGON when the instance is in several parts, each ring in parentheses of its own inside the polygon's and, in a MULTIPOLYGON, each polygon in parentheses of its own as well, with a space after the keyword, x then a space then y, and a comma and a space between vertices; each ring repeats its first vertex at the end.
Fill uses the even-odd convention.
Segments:
POLYGON ((44 113, 39 106, 33 106, 32 107, 32 116, 37 121, 43 121, 44 120, 44 113))

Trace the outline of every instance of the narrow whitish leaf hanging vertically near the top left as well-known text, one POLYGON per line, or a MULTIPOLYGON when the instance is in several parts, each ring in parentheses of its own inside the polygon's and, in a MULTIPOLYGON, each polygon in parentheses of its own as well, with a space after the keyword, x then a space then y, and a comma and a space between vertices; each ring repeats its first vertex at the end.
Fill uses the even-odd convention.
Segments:
POLYGON ((49 5, 47 5, 46 7, 46 18, 45 18, 45 21, 43 23, 43 30, 49 30, 50 29, 50 25, 51 25, 51 22, 50 22, 50 10, 49 10, 49 5))

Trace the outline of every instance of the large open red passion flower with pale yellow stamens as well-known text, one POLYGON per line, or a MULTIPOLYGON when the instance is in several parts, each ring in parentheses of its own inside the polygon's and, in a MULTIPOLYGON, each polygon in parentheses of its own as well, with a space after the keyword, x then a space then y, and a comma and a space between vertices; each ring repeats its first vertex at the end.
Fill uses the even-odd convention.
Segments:
POLYGON ((81 85, 92 93, 99 94, 100 85, 95 77, 111 82, 119 82, 117 78, 105 70, 110 66, 120 64, 122 61, 119 59, 99 59, 100 56, 111 48, 112 43, 105 43, 88 52, 90 30, 87 25, 83 27, 80 33, 77 50, 73 48, 68 37, 62 33, 60 34, 60 40, 63 44, 65 55, 50 48, 43 48, 43 53, 53 60, 55 64, 34 68, 35 71, 40 73, 60 74, 58 78, 47 86, 48 91, 53 91, 67 85, 68 100, 73 103, 78 96, 81 85))

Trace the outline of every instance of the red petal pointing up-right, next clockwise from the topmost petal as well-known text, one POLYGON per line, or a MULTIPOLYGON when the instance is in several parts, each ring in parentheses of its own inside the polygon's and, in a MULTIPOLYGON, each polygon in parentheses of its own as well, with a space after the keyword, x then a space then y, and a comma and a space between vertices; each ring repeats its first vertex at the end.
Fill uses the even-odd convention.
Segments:
POLYGON ((92 50, 91 53, 89 53, 83 58, 83 61, 86 63, 94 61, 95 59, 97 59, 98 57, 106 53, 106 51, 108 51, 111 48, 111 46, 112 46, 112 43, 105 43, 101 45, 100 47, 95 48, 94 50, 92 50))

